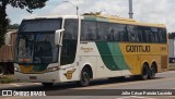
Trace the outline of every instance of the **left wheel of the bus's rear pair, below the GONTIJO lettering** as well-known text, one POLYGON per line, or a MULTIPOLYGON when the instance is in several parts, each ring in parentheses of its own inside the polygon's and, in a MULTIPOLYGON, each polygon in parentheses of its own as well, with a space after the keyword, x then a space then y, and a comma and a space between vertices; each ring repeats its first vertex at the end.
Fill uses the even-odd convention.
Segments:
POLYGON ((148 77, 149 77, 149 67, 147 64, 143 64, 140 78, 142 81, 145 81, 145 79, 148 79, 148 77))

